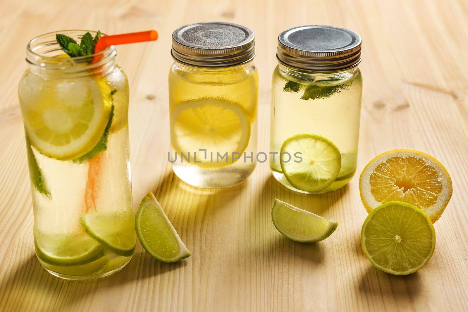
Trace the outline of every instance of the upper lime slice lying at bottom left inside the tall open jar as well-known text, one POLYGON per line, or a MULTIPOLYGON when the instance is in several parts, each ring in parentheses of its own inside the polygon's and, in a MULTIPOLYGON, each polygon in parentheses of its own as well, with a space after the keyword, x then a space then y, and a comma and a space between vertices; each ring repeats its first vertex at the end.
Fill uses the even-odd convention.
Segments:
POLYGON ((86 264, 104 255, 101 244, 84 233, 63 235, 35 231, 34 243, 40 260, 58 266, 86 264))

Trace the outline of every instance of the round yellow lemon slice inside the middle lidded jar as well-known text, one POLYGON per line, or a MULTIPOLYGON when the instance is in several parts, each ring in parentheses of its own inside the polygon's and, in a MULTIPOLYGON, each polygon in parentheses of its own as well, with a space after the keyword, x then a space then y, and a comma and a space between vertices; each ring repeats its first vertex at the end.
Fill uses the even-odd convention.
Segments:
POLYGON ((181 102, 172 108, 170 116, 172 146, 179 157, 181 152, 185 156, 190 152, 190 163, 197 166, 230 165, 239 156, 233 158, 233 152, 242 154, 249 144, 250 120, 240 104, 215 98, 197 99, 181 102), (200 149, 206 150, 206 159, 200 149))

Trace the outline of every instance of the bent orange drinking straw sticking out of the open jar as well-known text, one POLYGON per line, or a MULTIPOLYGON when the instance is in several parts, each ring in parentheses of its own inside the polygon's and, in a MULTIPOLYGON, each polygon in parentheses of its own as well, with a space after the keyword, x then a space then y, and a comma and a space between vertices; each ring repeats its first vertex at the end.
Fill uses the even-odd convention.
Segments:
MULTIPOLYGON (((137 42, 154 41, 156 39, 158 39, 158 32, 156 30, 132 32, 132 33, 120 34, 120 35, 103 36, 96 42, 94 53, 99 53, 105 50, 107 47, 110 47, 111 45, 134 44, 137 42)), ((101 58, 102 58, 102 55, 96 55, 93 60, 93 63, 99 62, 101 58)))

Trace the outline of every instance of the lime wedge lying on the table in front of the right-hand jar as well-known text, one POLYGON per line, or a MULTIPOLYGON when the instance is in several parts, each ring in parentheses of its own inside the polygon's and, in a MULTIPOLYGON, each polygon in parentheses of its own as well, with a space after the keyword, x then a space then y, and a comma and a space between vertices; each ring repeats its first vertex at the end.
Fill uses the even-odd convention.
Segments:
POLYGON ((314 243, 326 239, 335 232, 338 222, 317 216, 275 199, 271 218, 278 232, 288 239, 314 243))

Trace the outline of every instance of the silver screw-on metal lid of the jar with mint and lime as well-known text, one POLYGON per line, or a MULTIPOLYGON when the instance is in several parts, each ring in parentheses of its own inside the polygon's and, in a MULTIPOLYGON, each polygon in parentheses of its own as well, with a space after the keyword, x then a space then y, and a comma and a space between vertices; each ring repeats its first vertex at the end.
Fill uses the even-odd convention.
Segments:
POLYGON ((349 29, 328 26, 299 26, 278 36, 278 61, 312 71, 344 70, 361 61, 361 37, 349 29))

